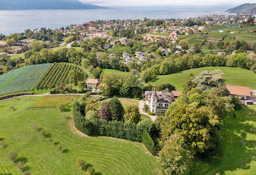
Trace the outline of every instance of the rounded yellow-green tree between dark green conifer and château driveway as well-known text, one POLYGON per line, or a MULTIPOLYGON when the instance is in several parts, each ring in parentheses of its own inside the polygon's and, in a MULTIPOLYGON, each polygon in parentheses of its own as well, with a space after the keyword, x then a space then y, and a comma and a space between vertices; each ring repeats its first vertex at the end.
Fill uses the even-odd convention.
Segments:
POLYGON ((130 105, 125 108, 125 114, 123 115, 125 122, 138 123, 141 119, 139 107, 137 105, 130 105))

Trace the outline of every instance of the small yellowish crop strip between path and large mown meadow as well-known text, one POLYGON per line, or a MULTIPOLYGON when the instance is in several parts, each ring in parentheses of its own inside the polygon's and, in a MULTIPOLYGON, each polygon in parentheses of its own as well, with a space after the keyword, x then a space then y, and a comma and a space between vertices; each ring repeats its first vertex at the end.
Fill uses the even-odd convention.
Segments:
POLYGON ((79 95, 47 95, 33 103, 29 109, 58 107, 62 103, 68 104, 75 101, 79 95))

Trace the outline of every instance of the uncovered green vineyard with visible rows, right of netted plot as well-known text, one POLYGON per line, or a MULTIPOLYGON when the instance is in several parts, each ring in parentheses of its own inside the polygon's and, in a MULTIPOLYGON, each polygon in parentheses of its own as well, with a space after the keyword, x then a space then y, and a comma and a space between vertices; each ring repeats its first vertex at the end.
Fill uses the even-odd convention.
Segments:
POLYGON ((69 63, 53 63, 51 68, 49 68, 48 72, 44 74, 41 80, 36 85, 37 89, 49 89, 55 88, 60 84, 68 84, 68 74, 71 70, 80 70, 79 66, 75 66, 74 64, 69 63))

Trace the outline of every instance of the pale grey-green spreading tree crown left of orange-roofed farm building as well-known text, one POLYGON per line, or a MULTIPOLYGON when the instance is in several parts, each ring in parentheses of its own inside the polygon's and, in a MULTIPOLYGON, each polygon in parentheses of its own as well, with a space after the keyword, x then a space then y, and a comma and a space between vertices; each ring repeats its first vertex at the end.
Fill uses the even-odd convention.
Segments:
POLYGON ((222 79, 222 76, 223 73, 221 70, 213 70, 212 72, 206 70, 196 76, 192 82, 202 91, 209 90, 214 87, 225 89, 225 80, 222 79))

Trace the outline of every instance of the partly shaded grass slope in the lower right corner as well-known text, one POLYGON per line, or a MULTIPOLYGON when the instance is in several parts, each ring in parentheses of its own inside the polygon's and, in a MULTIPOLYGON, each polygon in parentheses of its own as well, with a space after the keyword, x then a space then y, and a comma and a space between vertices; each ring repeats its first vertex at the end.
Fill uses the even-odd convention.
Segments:
POLYGON ((224 117, 223 155, 217 162, 196 161, 192 174, 256 174, 256 105, 224 117), (241 132, 247 137, 242 141, 241 132))

